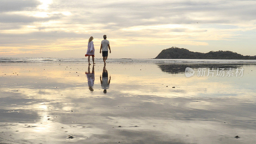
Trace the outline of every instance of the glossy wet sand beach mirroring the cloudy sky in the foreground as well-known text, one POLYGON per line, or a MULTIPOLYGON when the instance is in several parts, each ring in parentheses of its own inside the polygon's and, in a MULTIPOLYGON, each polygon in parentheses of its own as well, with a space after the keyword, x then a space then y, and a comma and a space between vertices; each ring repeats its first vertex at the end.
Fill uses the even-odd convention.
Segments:
POLYGON ((186 77, 187 65, 168 63, 107 63, 108 76, 102 62, 94 73, 87 63, 1 63, 0 143, 254 143, 256 66, 189 66, 244 76, 186 77))

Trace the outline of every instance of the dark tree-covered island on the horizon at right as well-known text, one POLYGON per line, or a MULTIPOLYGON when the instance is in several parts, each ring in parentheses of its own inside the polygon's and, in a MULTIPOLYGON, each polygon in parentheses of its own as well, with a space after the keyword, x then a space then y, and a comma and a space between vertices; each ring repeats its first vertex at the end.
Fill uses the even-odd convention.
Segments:
POLYGON ((243 56, 231 51, 211 51, 207 53, 191 52, 188 49, 171 47, 162 50, 155 59, 228 59, 228 60, 256 60, 255 56, 243 56))

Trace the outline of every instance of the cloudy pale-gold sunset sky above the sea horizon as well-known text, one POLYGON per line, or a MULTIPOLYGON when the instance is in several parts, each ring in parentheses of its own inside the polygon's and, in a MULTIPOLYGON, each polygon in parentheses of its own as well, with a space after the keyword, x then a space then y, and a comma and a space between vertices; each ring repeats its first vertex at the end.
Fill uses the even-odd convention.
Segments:
POLYGON ((256 55, 256 1, 0 0, 0 57, 155 58, 172 46, 256 55))

